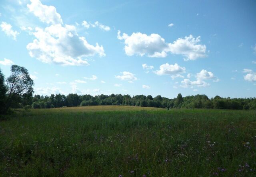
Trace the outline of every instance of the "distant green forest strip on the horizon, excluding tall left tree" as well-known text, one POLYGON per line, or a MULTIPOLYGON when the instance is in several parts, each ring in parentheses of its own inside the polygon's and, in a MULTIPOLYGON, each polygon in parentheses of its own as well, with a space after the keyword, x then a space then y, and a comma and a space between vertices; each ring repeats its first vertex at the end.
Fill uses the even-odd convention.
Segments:
MULTIPOLYGON (((54 108, 88 105, 129 105, 161 108, 208 108, 208 109, 256 109, 256 98, 222 98, 215 96, 209 99, 206 95, 182 97, 179 93, 176 98, 169 99, 157 95, 69 95, 52 94, 50 96, 34 95, 31 98, 32 108, 54 108)), ((24 103, 19 104, 21 107, 24 103)))

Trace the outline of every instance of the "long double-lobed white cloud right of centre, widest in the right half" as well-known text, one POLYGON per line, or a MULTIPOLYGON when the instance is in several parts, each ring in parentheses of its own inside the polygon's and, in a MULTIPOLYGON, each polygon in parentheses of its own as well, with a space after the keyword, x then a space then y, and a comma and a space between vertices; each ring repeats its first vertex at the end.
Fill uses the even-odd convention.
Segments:
POLYGON ((147 56, 164 58, 168 52, 184 56, 184 60, 196 60, 206 57, 206 46, 198 44, 200 36, 194 38, 192 35, 185 38, 178 38, 173 43, 166 43, 159 34, 142 34, 140 32, 132 33, 131 36, 118 30, 117 38, 124 40, 124 51, 126 55, 147 56))

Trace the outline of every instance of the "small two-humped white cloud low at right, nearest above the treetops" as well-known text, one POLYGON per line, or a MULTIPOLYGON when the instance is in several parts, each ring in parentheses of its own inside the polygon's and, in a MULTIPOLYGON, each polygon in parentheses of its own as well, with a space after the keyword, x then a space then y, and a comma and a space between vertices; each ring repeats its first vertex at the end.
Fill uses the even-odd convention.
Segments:
POLYGON ((189 79, 182 80, 181 87, 188 88, 193 86, 197 87, 206 87, 210 86, 209 83, 205 82, 205 80, 213 80, 213 82, 218 82, 219 79, 214 76, 212 72, 208 72, 206 70, 201 70, 199 73, 196 74, 196 81, 191 81, 189 79))

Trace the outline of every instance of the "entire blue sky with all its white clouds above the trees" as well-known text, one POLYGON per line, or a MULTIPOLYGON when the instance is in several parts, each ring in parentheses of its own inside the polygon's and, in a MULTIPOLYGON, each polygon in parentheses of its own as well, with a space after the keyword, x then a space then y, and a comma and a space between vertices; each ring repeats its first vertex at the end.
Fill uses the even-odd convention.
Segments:
POLYGON ((0 68, 35 94, 255 97, 255 0, 1 0, 0 68))

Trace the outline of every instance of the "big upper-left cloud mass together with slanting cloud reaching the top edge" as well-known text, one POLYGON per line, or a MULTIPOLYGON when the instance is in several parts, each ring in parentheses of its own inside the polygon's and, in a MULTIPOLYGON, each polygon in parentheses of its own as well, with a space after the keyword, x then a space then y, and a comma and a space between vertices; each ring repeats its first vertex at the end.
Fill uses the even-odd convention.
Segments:
POLYGON ((50 26, 46 28, 29 28, 29 34, 35 39, 27 45, 29 55, 44 63, 55 63, 61 65, 88 65, 86 57, 105 56, 103 46, 89 44, 86 39, 79 36, 73 25, 62 25, 60 14, 54 6, 43 5, 40 0, 30 0, 27 4, 30 12, 33 12, 42 22, 50 26))

